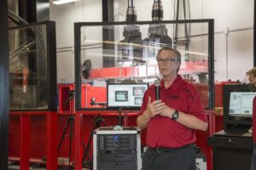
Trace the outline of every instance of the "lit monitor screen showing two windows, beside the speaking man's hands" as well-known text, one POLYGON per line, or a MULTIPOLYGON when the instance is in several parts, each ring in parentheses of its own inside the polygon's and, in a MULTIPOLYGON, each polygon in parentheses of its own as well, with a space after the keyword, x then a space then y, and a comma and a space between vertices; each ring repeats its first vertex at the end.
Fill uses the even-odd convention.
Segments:
POLYGON ((108 83, 108 108, 139 109, 148 83, 108 83))

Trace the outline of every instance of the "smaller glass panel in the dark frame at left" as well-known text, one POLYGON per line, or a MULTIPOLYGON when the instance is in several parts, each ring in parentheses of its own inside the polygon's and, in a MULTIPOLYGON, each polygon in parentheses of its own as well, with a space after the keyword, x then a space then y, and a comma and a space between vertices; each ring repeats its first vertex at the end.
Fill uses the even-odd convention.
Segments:
POLYGON ((10 109, 48 109, 46 26, 9 30, 10 109))

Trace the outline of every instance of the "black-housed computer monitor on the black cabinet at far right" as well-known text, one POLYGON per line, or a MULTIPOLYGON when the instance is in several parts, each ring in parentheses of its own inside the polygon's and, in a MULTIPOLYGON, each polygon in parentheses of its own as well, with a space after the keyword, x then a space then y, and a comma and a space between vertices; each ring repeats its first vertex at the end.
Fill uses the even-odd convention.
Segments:
POLYGON ((255 95, 247 84, 224 85, 224 130, 247 130, 252 126, 255 95))

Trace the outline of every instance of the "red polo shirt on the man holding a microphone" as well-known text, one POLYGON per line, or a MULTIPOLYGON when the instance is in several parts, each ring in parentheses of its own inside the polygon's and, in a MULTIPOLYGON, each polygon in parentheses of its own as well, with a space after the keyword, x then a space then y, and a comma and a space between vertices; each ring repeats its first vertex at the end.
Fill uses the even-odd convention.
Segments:
MULTIPOLYGON (((145 92, 138 116, 147 109, 148 96, 151 97, 151 101, 154 101, 154 85, 151 85, 145 92)), ((161 81, 160 99, 177 111, 194 115, 207 122, 204 107, 195 87, 189 82, 185 82, 179 75, 169 88, 165 88, 164 82, 161 81)), ((195 139, 195 130, 185 127, 169 117, 158 115, 148 122, 146 143, 149 147, 175 148, 194 143, 195 139)))

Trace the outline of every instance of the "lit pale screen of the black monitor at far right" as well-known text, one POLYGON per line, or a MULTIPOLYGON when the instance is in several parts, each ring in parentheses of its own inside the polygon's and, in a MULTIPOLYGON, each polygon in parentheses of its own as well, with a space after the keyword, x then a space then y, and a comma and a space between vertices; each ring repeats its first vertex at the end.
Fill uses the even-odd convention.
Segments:
POLYGON ((253 116, 256 92, 230 92, 230 116, 253 116))

